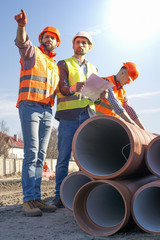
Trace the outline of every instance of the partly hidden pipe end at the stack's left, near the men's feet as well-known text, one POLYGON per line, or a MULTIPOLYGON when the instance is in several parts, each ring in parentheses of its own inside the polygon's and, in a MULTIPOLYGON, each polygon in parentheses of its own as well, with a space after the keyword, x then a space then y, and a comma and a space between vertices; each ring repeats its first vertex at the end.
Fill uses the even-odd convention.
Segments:
POLYGON ((60 197, 63 205, 70 211, 73 210, 73 199, 77 191, 93 178, 85 175, 82 171, 74 172, 64 178, 60 187, 60 197))

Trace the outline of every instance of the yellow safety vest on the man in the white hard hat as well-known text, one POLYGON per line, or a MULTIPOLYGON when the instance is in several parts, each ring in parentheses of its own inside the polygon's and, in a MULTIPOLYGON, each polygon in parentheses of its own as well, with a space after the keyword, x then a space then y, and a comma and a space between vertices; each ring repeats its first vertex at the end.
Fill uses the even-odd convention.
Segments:
MULTIPOLYGON (((98 74, 96 67, 90 63, 87 63, 87 76, 84 76, 78 61, 74 57, 65 59, 64 61, 66 62, 69 71, 69 86, 75 84, 76 82, 84 82, 92 73, 98 74)), ((94 103, 88 98, 84 98, 81 94, 77 93, 71 96, 64 96, 59 91, 59 88, 57 88, 57 111, 84 108, 87 105, 95 111, 94 103)))

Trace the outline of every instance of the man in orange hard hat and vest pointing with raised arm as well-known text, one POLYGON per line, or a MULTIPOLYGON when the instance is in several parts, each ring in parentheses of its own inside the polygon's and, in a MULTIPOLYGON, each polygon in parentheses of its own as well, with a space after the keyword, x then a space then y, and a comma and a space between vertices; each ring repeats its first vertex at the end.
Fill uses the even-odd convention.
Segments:
POLYGON ((23 211, 26 216, 41 216, 53 212, 56 206, 41 200, 43 161, 52 130, 59 70, 54 61, 54 49, 59 46, 60 34, 54 27, 46 27, 39 35, 40 47, 29 40, 25 26, 27 16, 22 9, 15 16, 18 23, 15 44, 21 55, 21 74, 17 107, 24 140, 22 167, 23 211))

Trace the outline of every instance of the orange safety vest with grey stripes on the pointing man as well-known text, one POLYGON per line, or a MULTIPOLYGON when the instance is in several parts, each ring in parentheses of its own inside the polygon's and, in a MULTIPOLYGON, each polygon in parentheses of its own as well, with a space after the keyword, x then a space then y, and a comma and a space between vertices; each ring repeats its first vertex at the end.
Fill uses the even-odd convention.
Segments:
POLYGON ((31 69, 23 70, 22 59, 20 63, 19 96, 16 107, 19 106, 19 102, 25 100, 50 104, 52 107, 59 82, 59 69, 56 63, 37 47, 35 64, 31 69))

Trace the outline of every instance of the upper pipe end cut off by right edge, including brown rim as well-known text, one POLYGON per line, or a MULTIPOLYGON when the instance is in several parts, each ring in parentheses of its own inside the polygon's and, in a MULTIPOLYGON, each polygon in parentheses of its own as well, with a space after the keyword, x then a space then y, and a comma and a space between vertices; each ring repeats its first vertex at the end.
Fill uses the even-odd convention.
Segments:
POLYGON ((160 136, 157 136, 148 144, 145 161, 151 173, 160 177, 160 136))

